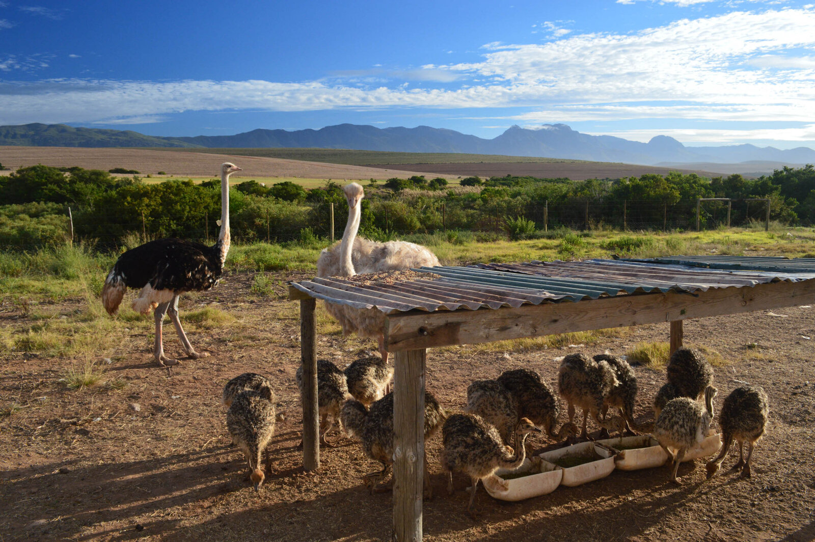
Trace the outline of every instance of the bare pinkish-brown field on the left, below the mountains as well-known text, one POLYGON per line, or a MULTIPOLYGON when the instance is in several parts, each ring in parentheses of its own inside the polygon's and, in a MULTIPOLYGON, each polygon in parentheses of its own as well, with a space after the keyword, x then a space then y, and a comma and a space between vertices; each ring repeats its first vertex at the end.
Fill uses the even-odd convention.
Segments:
POLYGON ((0 164, 9 168, 9 170, 2 171, 0 174, 8 174, 20 167, 43 164, 52 167, 73 167, 78 165, 86 170, 104 171, 124 168, 126 170, 137 170, 141 174, 152 175, 164 171, 168 175, 218 177, 221 164, 227 161, 234 162, 243 169, 243 171, 233 175, 232 178, 386 179, 391 177, 407 178, 421 174, 419 170, 410 171, 402 166, 374 168, 236 154, 156 151, 141 148, 0 146, 0 164))

